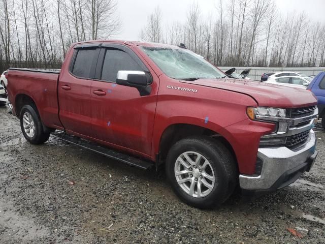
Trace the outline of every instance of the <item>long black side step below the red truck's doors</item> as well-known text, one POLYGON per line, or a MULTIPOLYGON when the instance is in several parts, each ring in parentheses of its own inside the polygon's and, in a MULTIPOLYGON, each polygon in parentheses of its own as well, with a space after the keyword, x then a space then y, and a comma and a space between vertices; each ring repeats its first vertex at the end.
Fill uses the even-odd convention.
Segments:
POLYGON ((101 146, 95 142, 90 142, 88 140, 69 135, 66 132, 56 132, 53 133, 53 135, 56 136, 58 139, 92 150, 95 153, 104 155, 110 159, 114 159, 128 165, 136 166, 142 169, 149 169, 154 166, 153 162, 141 160, 133 156, 120 153, 119 151, 107 148, 105 146, 101 146))

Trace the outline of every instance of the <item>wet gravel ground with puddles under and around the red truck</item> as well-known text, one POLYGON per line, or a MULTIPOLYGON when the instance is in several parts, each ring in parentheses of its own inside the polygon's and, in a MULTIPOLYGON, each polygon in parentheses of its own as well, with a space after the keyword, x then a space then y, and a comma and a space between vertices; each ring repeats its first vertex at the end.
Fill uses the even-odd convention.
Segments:
POLYGON ((154 171, 52 136, 27 143, 0 108, 0 243, 325 243, 325 131, 315 131, 317 161, 295 184, 200 210, 154 171))

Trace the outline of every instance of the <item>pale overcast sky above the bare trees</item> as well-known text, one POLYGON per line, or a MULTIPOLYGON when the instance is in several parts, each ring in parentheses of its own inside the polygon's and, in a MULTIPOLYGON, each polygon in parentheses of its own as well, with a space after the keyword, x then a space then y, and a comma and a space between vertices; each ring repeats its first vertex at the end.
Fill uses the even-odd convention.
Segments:
MULTIPOLYGON (((224 3, 227 0, 223 0, 224 3)), ((117 39, 139 40, 141 28, 146 25, 147 17, 159 6, 163 14, 163 23, 185 22, 188 6, 197 2, 203 16, 213 16, 218 0, 117 0, 122 29, 117 39)), ((284 15, 305 11, 312 20, 325 23, 325 0, 275 0, 279 11, 284 15)))

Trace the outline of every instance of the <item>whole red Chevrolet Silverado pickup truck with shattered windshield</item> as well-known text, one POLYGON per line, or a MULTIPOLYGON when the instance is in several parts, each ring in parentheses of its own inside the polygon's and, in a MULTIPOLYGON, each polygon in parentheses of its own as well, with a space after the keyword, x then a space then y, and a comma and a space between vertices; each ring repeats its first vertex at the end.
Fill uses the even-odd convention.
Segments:
POLYGON ((317 156, 312 93, 231 79, 183 45, 73 44, 61 70, 11 68, 8 95, 30 143, 60 130, 122 162, 164 166, 180 199, 200 208, 238 185, 283 188, 317 156))

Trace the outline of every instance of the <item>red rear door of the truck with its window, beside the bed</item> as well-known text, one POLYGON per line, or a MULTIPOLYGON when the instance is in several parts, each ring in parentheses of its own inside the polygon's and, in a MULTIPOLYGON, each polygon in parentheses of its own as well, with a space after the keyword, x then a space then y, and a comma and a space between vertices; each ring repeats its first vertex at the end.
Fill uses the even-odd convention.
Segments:
POLYGON ((100 44, 74 47, 69 72, 62 72, 58 83, 60 120, 68 132, 93 136, 91 130, 90 87, 100 44))

